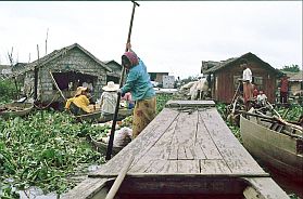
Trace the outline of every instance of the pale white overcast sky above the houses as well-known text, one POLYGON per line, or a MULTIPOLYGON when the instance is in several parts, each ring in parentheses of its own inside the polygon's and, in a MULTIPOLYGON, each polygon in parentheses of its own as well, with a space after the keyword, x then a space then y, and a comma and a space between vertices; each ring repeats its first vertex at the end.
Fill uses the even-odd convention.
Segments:
MULTIPOLYGON (((149 71, 197 76, 202 61, 252 52, 275 68, 302 67, 302 1, 138 1, 131 44, 149 71)), ((78 43, 121 62, 130 1, 0 1, 0 64, 27 63, 78 43)))

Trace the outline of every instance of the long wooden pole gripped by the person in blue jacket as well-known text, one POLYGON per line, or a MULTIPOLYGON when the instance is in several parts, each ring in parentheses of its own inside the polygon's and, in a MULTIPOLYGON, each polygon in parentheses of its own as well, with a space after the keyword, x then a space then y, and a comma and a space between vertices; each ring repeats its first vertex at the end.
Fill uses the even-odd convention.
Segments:
MULTIPOLYGON (((131 1, 131 2, 132 2, 132 12, 131 12, 130 25, 129 25, 129 29, 128 29, 127 43, 130 42, 130 36, 131 36, 131 28, 132 28, 135 9, 136 9, 136 5, 139 6, 139 4, 136 3, 135 1, 131 1)), ((127 52, 127 51, 128 51, 128 49, 126 48, 125 52, 127 52)), ((122 88, 122 85, 123 85, 124 75, 125 75, 125 67, 123 66, 122 75, 121 75, 121 79, 119 79, 119 88, 122 88)), ((117 120, 118 108, 119 108, 119 101, 121 101, 121 93, 117 93, 117 104, 116 104, 115 112, 114 112, 114 116, 113 116, 113 123, 112 123, 111 135, 110 135, 109 145, 108 145, 105 160, 110 160, 111 157, 112 157, 113 143, 114 143, 114 134, 115 134, 115 128, 116 128, 116 120, 117 120)))

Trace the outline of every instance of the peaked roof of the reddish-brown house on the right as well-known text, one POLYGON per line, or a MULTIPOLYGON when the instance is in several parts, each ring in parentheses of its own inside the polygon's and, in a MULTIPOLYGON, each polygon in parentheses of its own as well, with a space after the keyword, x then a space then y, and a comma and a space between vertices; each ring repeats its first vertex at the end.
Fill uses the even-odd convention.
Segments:
POLYGON ((220 61, 220 62, 202 62, 202 68, 201 68, 201 72, 202 74, 212 74, 215 71, 218 71, 220 69, 224 69, 232 64, 238 64, 240 62, 241 58, 247 58, 247 59, 255 59, 260 63, 262 63, 262 65, 264 67, 266 67, 267 69, 275 71, 278 75, 281 75, 282 72, 274 67, 272 67, 268 63, 262 61, 261 58, 258 58, 255 54, 249 52, 247 54, 243 54, 242 56, 239 57, 232 57, 232 58, 228 58, 226 61, 220 61))

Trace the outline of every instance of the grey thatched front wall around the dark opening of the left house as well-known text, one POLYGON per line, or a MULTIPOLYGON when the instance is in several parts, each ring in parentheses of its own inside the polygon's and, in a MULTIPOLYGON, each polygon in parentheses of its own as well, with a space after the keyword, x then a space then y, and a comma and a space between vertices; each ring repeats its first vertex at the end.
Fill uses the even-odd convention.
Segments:
MULTIPOLYGON (((66 54, 47 63, 39 68, 38 98, 43 103, 49 103, 55 100, 59 100, 61 102, 63 101, 62 97, 60 97, 58 90, 53 89, 53 82, 49 70, 51 70, 52 72, 78 71, 81 74, 96 76, 97 81, 93 82, 94 92, 92 93, 96 97, 101 96, 102 87, 106 83, 105 68, 94 62, 83 51, 75 48, 71 51, 67 51, 66 54)), ((29 79, 26 79, 25 81, 29 81, 29 79)), ((66 97, 71 97, 74 92, 65 91, 64 94, 66 97)))

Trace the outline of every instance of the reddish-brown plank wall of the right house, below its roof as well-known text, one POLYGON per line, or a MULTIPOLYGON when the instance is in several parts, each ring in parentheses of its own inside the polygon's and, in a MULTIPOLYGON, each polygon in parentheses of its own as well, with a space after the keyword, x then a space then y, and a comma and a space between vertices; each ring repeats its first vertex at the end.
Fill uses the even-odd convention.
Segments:
MULTIPOLYGON (((249 63, 253 77, 256 83, 258 83, 258 88, 264 91, 268 101, 274 103, 276 92, 275 74, 263 67, 258 62, 249 61, 249 63)), ((213 92, 214 98, 223 103, 231 103, 238 85, 237 78, 242 78, 242 68, 236 64, 216 71, 213 83, 213 88, 215 89, 213 92)))

